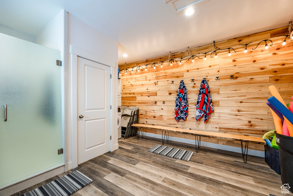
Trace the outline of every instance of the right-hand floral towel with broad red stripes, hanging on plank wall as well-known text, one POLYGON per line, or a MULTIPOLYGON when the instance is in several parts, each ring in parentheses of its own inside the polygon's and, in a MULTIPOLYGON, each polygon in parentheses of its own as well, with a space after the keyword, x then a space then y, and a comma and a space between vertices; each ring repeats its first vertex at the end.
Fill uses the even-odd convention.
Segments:
POLYGON ((205 122, 210 117, 210 113, 214 111, 211 93, 207 80, 203 79, 200 84, 200 91, 197 97, 195 119, 199 120, 204 115, 205 122))

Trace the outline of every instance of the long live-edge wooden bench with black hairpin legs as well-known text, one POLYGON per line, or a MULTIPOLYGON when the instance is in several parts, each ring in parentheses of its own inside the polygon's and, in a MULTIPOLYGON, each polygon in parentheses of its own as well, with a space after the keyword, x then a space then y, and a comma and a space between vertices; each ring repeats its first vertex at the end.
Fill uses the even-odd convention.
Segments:
POLYGON ((212 131, 200 131, 200 130, 190 130, 190 129, 182 129, 182 128, 173 128, 173 127, 165 127, 165 126, 158 126, 158 125, 144 125, 144 124, 133 124, 133 127, 139 128, 137 139, 139 139, 140 133, 142 133, 143 138, 143 129, 153 129, 162 131, 162 145, 164 145, 165 137, 168 142, 169 140, 169 132, 173 133, 181 133, 187 135, 195 135, 195 151, 198 152, 200 148, 200 140, 201 136, 208 137, 208 138, 217 138, 217 139, 225 139, 225 140, 237 140, 241 141, 241 150, 243 161, 246 163, 247 161, 247 152, 248 152, 248 143, 255 143, 255 144, 263 144, 265 145, 265 140, 258 137, 247 136, 247 135, 237 135, 231 133, 219 133, 219 132, 212 132, 212 131), (163 131, 165 131, 164 138, 163 138, 163 131), (168 132, 168 136, 166 134, 168 132), (243 149, 243 142, 245 142, 245 147, 243 149), (246 155, 246 158, 244 158, 246 155))

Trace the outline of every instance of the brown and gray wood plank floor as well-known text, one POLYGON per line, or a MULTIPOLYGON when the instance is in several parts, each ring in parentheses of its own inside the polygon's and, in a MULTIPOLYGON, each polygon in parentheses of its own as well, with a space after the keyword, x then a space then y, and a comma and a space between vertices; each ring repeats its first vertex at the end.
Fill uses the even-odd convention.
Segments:
MULTIPOLYGON (((16 193, 40 187, 74 170, 93 182, 74 196, 81 195, 286 195, 281 193, 281 177, 268 167, 264 158, 248 155, 243 163, 240 153, 165 141, 165 145, 191 150, 190 161, 178 160, 155 153, 151 147, 161 140, 137 138, 118 140, 119 149, 79 167, 16 193)), ((287 194, 293 195, 293 194, 287 194)))

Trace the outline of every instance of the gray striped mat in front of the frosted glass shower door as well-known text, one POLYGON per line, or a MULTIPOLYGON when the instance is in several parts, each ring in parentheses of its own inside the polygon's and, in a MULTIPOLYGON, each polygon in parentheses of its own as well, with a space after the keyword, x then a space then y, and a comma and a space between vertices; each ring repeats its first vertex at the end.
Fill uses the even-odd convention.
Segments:
POLYGON ((74 171, 21 196, 68 196, 91 182, 91 178, 74 171))

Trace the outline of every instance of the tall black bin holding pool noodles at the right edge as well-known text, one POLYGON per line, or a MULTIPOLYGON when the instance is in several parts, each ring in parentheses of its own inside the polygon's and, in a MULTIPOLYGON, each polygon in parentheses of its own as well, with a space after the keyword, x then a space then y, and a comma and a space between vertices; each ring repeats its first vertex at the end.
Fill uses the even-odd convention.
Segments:
MULTIPOLYGON (((293 137, 276 133, 276 141, 279 146, 282 184, 293 187, 293 137)), ((293 188, 290 188, 293 192, 293 188)))

